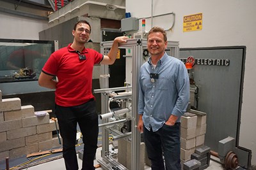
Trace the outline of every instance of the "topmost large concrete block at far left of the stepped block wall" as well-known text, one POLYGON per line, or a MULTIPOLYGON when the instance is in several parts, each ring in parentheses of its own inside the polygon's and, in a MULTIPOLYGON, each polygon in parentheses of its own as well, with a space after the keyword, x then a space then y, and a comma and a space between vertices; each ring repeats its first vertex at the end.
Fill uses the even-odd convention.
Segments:
POLYGON ((20 110, 21 109, 21 102, 20 98, 9 98, 9 99, 2 99, 0 102, 0 111, 11 111, 11 110, 20 110))

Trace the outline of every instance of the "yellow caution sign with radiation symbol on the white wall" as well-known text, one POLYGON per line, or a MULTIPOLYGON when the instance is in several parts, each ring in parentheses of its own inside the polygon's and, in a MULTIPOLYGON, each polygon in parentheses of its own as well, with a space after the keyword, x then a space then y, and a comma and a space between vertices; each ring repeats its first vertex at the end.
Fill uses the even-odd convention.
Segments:
POLYGON ((183 17, 183 32, 202 30, 203 14, 196 13, 183 17))

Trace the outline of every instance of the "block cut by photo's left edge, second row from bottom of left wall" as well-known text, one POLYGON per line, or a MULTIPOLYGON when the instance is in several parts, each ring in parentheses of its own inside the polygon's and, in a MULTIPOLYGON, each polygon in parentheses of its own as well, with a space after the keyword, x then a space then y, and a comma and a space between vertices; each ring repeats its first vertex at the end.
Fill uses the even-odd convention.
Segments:
POLYGON ((0 152, 12 150, 13 148, 20 148, 25 146, 25 138, 18 138, 0 142, 0 152))

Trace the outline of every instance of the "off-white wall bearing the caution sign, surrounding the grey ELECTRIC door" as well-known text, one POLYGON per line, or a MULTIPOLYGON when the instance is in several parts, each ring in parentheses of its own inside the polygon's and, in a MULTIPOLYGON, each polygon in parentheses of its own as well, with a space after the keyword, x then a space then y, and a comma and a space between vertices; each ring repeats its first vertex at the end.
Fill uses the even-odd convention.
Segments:
MULTIPOLYGON (((146 18, 151 15, 175 13, 175 25, 168 32, 168 40, 179 41, 180 48, 196 48, 210 46, 246 46, 246 61, 243 84, 243 104, 241 110, 241 126, 239 146, 252 150, 252 164, 256 164, 256 129, 255 118, 255 6, 256 1, 126 1, 126 12, 132 17, 146 18), (153 10, 151 10, 153 2, 153 10), (141 10, 143 9, 147 10, 141 10), (201 31, 183 32, 183 17, 195 13, 203 14, 201 31)), ((164 29, 172 27, 172 15, 156 17, 153 26, 164 29)), ((140 20, 141 25, 141 20, 140 20)), ((151 18, 146 20, 146 30, 152 27, 151 18)), ((216 122, 218 123, 218 122, 216 122)), ((234 129, 234 131, 236 131, 234 129)))

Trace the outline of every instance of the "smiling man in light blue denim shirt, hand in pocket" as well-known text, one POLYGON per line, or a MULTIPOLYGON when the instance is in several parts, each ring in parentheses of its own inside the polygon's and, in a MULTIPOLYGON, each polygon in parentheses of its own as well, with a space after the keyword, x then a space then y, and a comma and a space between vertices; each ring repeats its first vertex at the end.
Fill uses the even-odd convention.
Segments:
POLYGON ((180 117, 189 103, 188 71, 182 61, 166 54, 166 32, 148 32, 148 62, 140 69, 138 129, 144 134, 152 170, 179 170, 180 117), (164 160, 163 160, 164 155, 164 160))

